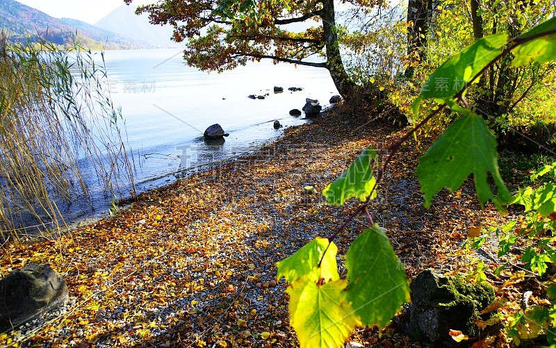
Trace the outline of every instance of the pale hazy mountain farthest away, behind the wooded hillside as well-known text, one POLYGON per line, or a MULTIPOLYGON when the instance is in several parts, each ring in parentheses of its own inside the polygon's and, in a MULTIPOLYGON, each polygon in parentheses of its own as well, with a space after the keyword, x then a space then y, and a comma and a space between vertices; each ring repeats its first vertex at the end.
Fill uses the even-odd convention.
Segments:
POLYGON ((155 47, 180 47, 170 40, 173 36, 172 27, 150 24, 149 17, 136 15, 135 9, 135 6, 122 5, 99 20, 95 26, 129 36, 137 41, 149 42, 155 47))

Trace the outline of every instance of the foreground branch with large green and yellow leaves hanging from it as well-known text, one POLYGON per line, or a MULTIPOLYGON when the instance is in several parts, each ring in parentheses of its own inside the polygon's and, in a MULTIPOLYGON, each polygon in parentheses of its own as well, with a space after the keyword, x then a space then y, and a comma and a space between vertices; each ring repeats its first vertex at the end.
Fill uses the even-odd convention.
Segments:
POLYGON ((439 105, 404 137, 389 147, 389 155, 373 175, 377 152, 368 147, 322 194, 329 204, 341 206, 357 198, 361 204, 328 238, 316 238, 293 256, 277 263, 278 274, 290 283, 291 325, 300 347, 341 347, 356 326, 384 327, 400 306, 409 301, 404 267, 386 231, 373 222, 368 206, 377 197, 384 172, 402 144, 445 108, 461 113, 420 158, 416 169, 430 206, 434 195, 448 188, 454 192, 473 174, 481 205, 492 201, 498 210, 512 201, 498 169, 496 138, 484 119, 468 105, 465 94, 500 58, 513 55, 512 66, 556 59, 556 18, 539 24, 518 38, 506 34, 477 40, 448 59, 427 79, 414 102, 414 114, 425 99, 439 105), (496 185, 493 192, 489 177, 496 185), (347 251, 347 276, 341 279, 336 265, 334 240, 355 217, 366 214, 370 228, 361 233, 347 251))

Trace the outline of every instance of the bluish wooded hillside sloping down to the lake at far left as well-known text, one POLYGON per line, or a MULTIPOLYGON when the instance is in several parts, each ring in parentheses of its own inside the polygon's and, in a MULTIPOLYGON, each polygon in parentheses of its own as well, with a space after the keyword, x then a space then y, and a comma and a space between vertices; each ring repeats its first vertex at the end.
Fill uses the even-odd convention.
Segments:
POLYGON ((38 41, 39 38, 60 46, 78 42, 89 48, 147 48, 151 44, 97 28, 76 19, 57 19, 15 0, 0 0, 0 29, 11 40, 38 41))

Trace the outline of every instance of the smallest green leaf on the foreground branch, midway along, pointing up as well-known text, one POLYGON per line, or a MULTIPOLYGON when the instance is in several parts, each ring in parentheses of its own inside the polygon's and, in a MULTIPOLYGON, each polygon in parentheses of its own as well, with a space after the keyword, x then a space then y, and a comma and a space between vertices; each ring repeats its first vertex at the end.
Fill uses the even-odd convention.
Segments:
MULTIPOLYGON (((376 158, 377 151, 373 147, 366 148, 338 179, 322 190, 328 204, 342 206, 350 198, 365 201, 375 187, 376 180, 370 162, 376 158)), ((375 191, 370 199, 376 196, 375 191)))

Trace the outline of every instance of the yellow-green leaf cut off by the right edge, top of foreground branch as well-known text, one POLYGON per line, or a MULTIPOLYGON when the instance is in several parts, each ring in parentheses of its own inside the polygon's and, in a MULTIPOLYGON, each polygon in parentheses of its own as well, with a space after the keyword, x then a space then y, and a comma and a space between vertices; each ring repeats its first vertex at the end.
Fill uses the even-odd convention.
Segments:
MULTIPOLYGON (((521 35, 519 38, 528 38, 532 35, 539 35, 548 31, 556 30, 556 17, 548 19, 548 21, 535 26, 527 33, 521 35)), ((556 33, 541 36, 531 41, 520 44, 515 49, 514 60, 512 60, 512 67, 522 67, 528 65, 531 60, 537 63, 548 62, 549 60, 556 59, 556 33)))

